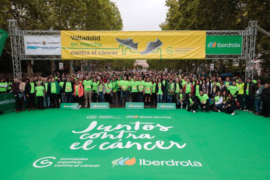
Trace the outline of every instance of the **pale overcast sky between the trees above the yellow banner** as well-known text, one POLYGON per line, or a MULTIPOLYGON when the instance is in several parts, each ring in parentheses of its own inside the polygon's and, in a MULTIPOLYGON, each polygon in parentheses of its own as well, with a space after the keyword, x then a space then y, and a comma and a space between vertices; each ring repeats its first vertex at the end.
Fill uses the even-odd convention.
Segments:
POLYGON ((111 0, 120 11, 124 31, 161 31, 168 7, 165 0, 111 0))

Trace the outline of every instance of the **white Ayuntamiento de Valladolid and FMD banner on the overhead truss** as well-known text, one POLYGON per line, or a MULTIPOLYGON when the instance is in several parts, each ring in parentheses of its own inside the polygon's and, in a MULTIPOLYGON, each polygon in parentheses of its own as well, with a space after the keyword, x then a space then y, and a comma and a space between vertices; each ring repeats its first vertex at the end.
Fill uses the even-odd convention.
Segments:
POLYGON ((25 55, 61 55, 61 36, 24 36, 25 55))

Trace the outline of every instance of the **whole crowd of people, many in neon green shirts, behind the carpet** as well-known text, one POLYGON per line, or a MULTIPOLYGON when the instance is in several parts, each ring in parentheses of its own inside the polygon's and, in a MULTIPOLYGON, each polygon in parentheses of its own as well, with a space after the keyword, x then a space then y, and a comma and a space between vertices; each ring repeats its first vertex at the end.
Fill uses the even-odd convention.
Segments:
POLYGON ((0 93, 12 90, 16 112, 59 108, 59 103, 79 103, 89 107, 91 102, 109 102, 109 106, 125 106, 126 102, 144 102, 145 107, 157 103, 175 103, 177 108, 195 113, 221 112, 234 115, 236 110, 269 116, 269 82, 238 76, 158 71, 77 72, 56 77, 27 77, 1 79, 0 93), (225 79, 222 79, 225 78, 225 79), (243 104, 245 102, 245 106, 243 104), (262 102, 262 106, 261 106, 262 102))

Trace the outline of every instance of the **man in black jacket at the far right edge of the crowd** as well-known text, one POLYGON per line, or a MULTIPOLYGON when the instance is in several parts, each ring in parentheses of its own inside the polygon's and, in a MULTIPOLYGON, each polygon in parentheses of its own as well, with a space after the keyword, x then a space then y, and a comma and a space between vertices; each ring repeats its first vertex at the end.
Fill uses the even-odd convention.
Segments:
POLYGON ((269 113, 270 113, 270 88, 269 84, 266 83, 264 85, 264 89, 262 90, 262 116, 268 118, 269 113))

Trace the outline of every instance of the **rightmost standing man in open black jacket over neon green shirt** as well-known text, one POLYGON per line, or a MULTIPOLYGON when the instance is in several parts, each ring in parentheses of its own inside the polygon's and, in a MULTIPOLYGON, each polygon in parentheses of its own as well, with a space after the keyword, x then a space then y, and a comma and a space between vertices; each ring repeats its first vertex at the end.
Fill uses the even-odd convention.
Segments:
POLYGON ((250 78, 247 78, 247 82, 244 84, 244 96, 246 101, 246 107, 244 111, 253 113, 254 95, 256 93, 256 85, 251 82, 250 78))

